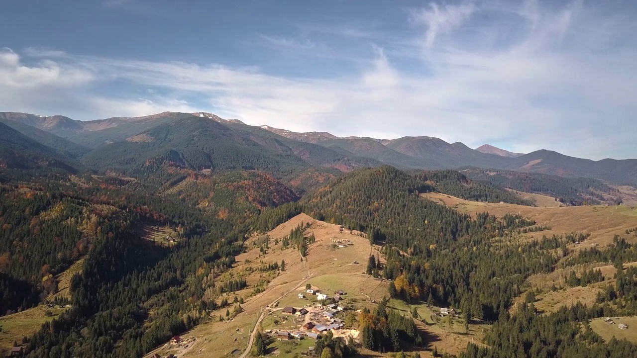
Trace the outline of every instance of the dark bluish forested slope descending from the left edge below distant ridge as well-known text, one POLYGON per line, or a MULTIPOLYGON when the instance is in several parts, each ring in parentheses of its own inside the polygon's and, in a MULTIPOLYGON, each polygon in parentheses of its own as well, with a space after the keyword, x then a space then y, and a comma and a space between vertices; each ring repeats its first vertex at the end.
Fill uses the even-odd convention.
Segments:
POLYGON ((54 148, 38 143, 0 123, 0 169, 38 169, 50 172, 57 168, 76 173, 78 166, 77 162, 54 148))

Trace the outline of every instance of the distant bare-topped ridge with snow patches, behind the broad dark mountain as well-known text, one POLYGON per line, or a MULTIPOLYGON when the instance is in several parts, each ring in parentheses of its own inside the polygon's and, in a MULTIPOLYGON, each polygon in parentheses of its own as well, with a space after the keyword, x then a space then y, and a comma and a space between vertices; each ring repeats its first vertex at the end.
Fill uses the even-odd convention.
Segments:
MULTIPOLYGON (((406 136, 394 140, 355 136, 338 138, 329 132, 299 133, 268 125, 254 127, 245 125, 240 120, 224 120, 217 115, 204 112, 163 112, 145 117, 113 117, 87 122, 62 116, 44 117, 25 113, 0 113, 2 119, 17 121, 59 134, 87 148, 98 148, 109 143, 124 141, 159 125, 193 116, 234 126, 234 131, 243 132, 240 134, 241 138, 273 152, 296 156, 311 166, 337 168, 340 171, 381 164, 406 169, 457 169, 473 166, 566 177, 581 176, 619 184, 637 185, 637 159, 622 161, 604 159, 594 162, 549 150, 538 150, 520 155, 490 145, 483 145, 478 150, 473 150, 461 142, 447 143, 439 138, 424 136, 406 136)), ((53 145, 53 143, 50 144, 53 145)))

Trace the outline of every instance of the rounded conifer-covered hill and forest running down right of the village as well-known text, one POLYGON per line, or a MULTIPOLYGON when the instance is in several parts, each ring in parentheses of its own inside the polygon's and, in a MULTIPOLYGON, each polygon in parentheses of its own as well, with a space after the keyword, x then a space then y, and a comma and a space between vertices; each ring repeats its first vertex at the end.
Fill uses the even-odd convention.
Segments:
MULTIPOLYGON (((487 213, 471 219, 417 197, 418 190, 427 189, 425 185, 393 168, 368 169, 336 180, 302 202, 310 215, 364 229, 370 241, 385 241, 386 264, 375 263, 371 270, 368 266, 368 272, 394 280, 390 296, 459 308, 465 322, 497 322, 485 340, 491 348, 469 345, 461 357, 567 356, 566 352, 569 357, 620 357, 637 352, 634 344, 606 344, 590 330, 578 334, 587 319, 635 313, 637 297, 627 293, 637 285, 631 269, 629 279, 618 280, 614 291, 622 290, 627 303, 615 306, 600 299, 601 304, 593 308, 579 304, 545 317, 530 305, 510 315, 513 299, 522 294, 526 279, 555 271, 568 253, 567 241, 544 237, 510 242, 507 238, 536 223, 517 215, 494 218, 487 213), (502 236, 504 240, 496 240, 502 236), (594 349, 587 350, 590 345, 594 349)), ((593 260, 635 259, 613 252, 609 252, 612 257, 593 260)), ((532 302, 531 298, 522 304, 532 302)))

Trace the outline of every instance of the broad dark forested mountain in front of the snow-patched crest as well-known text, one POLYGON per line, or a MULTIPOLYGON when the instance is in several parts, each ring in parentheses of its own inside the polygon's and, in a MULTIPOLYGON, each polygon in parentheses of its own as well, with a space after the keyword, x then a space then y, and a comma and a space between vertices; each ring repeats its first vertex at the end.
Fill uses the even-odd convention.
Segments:
POLYGON ((211 171, 261 169, 282 176, 310 167, 295 155, 268 150, 225 125, 192 115, 103 145, 85 155, 83 161, 102 170, 127 173, 169 164, 211 171))

